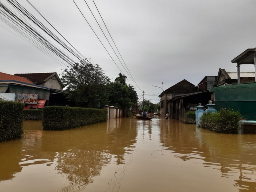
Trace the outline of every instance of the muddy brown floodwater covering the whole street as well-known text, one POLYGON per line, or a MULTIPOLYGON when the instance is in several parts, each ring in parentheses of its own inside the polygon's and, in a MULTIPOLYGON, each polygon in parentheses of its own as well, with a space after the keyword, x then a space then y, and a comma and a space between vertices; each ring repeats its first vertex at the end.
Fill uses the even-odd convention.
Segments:
POLYGON ((1 192, 256 191, 256 135, 218 134, 159 117, 64 131, 24 121, 0 143, 1 192))

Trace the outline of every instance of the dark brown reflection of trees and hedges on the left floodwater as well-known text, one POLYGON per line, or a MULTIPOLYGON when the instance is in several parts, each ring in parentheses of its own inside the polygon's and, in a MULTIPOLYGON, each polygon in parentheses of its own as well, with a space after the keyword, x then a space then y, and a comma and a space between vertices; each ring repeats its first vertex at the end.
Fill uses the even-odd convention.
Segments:
POLYGON ((124 155, 132 150, 136 122, 124 121, 120 118, 66 131, 42 131, 41 122, 24 121, 24 137, 6 142, 6 146, 1 144, 0 167, 5 172, 1 171, 0 179, 13 178, 24 166, 44 163, 51 166, 55 161, 58 174, 70 181, 66 189, 70 185, 73 189, 85 188, 111 158, 115 158, 117 165, 123 164, 124 155))

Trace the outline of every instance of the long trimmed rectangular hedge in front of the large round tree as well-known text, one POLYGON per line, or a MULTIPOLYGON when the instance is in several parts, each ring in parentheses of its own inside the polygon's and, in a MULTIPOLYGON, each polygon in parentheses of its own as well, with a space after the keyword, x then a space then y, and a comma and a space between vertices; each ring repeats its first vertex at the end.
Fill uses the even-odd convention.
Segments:
POLYGON ((108 119, 107 110, 47 106, 43 108, 43 130, 66 130, 89 124, 105 122, 108 119))

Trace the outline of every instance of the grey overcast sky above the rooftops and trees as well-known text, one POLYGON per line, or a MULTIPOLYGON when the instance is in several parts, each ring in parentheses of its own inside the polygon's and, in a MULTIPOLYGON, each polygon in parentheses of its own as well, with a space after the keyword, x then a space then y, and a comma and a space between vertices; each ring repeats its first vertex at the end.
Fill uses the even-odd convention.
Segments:
MULTIPOLYGON (((152 85, 166 90, 183 79, 197 85, 205 76, 217 76, 219 68, 236 72, 231 60, 256 47, 255 0, 94 0, 125 62, 123 67, 84 0, 74 2, 116 63, 72 0, 28 1, 112 81, 122 72, 139 98, 144 91, 144 98, 152 103, 159 102, 162 92, 152 85)), ((11 8, 6 0, 0 2, 11 8)), ((26 0, 18 2, 60 37, 26 0)), ((93 1, 86 2, 111 42, 93 1)), ((62 73, 61 62, 24 39, 0 20, 0 72, 62 73)), ((254 65, 242 65, 240 70, 254 72, 254 65)))

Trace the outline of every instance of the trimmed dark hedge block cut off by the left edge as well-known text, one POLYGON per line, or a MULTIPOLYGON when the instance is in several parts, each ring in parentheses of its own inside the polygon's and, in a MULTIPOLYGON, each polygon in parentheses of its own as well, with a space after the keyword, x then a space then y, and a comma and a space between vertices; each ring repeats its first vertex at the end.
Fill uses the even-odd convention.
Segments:
POLYGON ((24 103, 0 101, 0 142, 22 137, 24 103))

